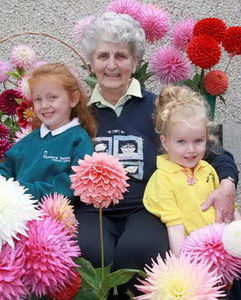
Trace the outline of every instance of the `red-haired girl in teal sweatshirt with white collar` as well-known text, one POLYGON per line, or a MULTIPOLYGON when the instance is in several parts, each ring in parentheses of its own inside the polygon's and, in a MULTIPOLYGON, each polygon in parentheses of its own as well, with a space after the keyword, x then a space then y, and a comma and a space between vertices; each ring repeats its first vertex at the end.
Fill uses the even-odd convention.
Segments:
POLYGON ((74 200, 71 166, 92 154, 96 132, 87 97, 69 68, 60 63, 36 68, 28 83, 42 124, 7 151, 0 175, 19 181, 35 199, 57 192, 74 200))

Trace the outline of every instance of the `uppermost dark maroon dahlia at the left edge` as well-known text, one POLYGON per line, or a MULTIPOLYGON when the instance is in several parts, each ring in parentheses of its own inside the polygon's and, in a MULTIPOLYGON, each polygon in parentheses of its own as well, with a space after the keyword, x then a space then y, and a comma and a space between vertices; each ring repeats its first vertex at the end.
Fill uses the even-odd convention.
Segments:
POLYGON ((0 110, 4 114, 12 116, 16 114, 16 110, 19 107, 16 99, 20 98, 17 90, 4 90, 0 95, 0 110))

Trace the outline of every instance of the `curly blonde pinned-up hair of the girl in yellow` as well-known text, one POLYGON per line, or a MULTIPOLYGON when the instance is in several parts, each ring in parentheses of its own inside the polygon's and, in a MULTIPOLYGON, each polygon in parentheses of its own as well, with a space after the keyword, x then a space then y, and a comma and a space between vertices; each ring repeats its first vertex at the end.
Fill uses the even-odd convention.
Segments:
POLYGON ((207 141, 216 142, 210 133, 209 106, 205 99, 186 86, 167 86, 156 99, 156 132, 167 135, 170 124, 177 121, 188 123, 190 120, 203 121, 207 128, 207 141))

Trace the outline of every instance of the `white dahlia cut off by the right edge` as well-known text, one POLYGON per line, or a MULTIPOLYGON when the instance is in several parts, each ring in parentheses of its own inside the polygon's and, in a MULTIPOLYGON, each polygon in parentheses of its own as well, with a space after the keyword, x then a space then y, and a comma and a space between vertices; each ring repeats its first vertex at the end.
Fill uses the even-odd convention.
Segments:
POLYGON ((232 256, 241 259, 241 220, 227 224, 223 231, 224 249, 232 256))

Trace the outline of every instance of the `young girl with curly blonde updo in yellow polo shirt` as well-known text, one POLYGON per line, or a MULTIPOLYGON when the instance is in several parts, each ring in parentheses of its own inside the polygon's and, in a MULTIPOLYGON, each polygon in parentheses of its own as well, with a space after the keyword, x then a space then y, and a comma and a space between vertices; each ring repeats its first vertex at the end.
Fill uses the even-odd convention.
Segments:
POLYGON ((166 224, 170 249, 178 254, 185 235, 215 222, 214 206, 201 209, 219 186, 216 171, 202 160, 215 138, 205 100, 187 87, 164 88, 156 109, 156 131, 166 154, 157 157, 143 202, 166 224))

